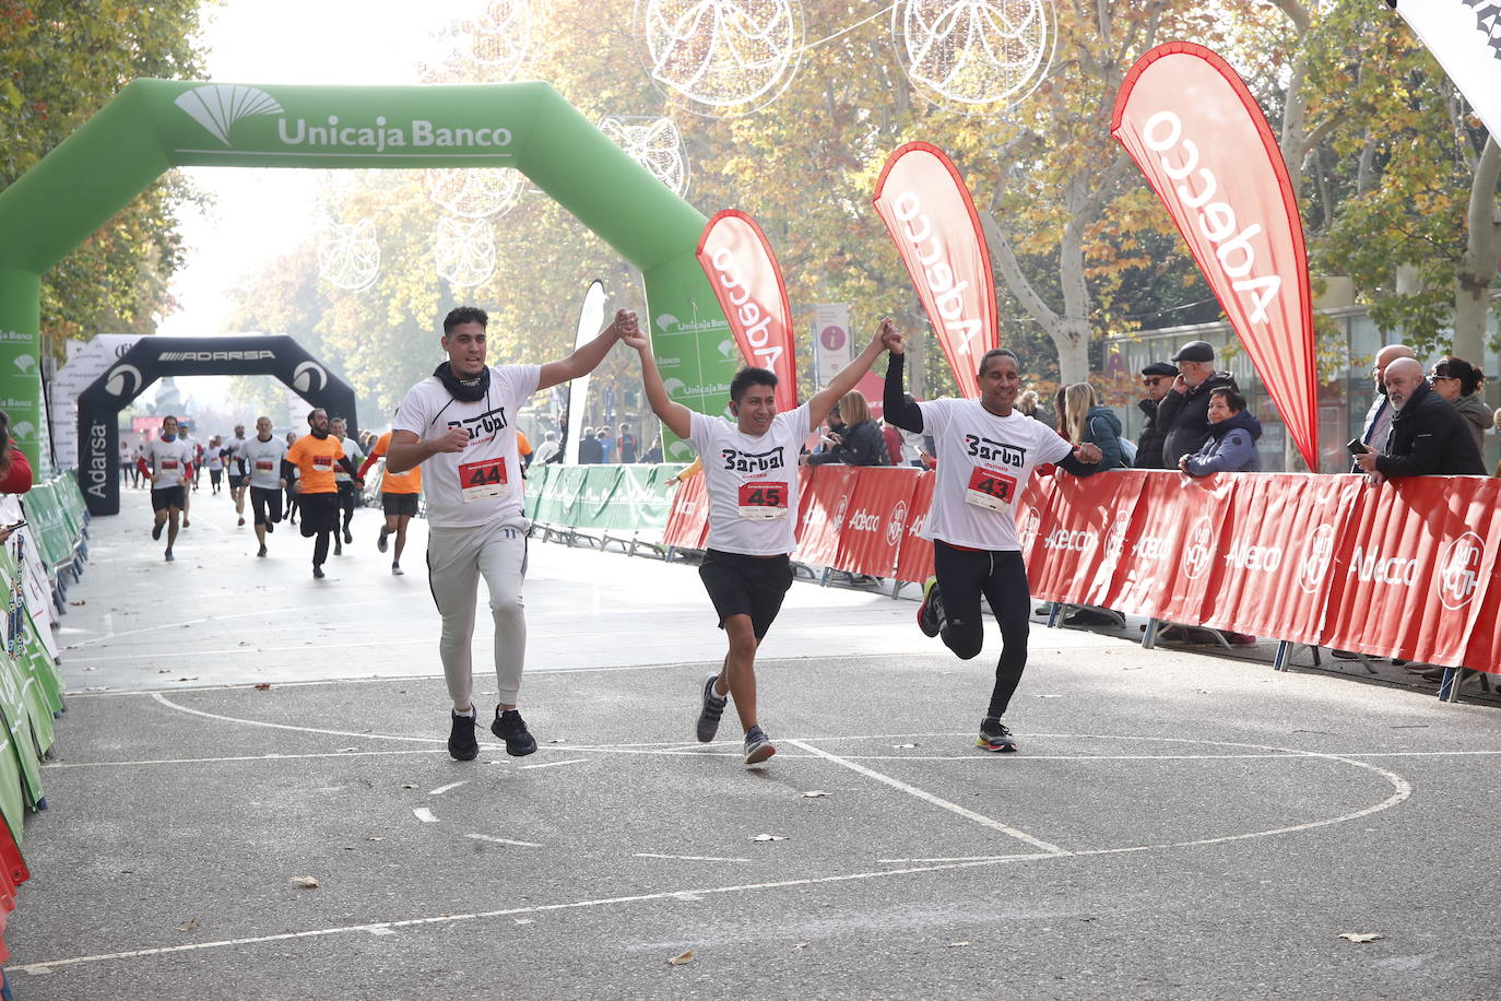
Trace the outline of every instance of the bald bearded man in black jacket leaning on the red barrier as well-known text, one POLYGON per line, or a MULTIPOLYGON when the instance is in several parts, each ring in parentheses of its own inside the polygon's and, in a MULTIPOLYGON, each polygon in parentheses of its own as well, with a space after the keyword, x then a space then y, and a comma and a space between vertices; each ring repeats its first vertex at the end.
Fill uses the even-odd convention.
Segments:
POLYGON ((1484 476, 1486 467, 1463 416, 1433 392, 1415 359, 1387 366, 1387 399, 1396 408, 1385 453, 1370 450, 1355 464, 1375 482, 1403 476, 1484 476))

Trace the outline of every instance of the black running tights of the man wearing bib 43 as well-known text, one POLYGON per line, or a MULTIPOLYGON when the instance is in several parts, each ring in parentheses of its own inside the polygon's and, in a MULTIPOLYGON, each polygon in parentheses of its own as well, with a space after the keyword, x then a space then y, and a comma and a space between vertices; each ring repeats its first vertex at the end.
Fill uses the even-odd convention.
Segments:
POLYGON ((956 549, 934 542, 934 573, 943 600, 940 636, 959 657, 976 657, 985 645, 982 594, 1001 624, 1001 659, 986 716, 1004 716, 1027 669, 1031 591, 1022 554, 956 549))

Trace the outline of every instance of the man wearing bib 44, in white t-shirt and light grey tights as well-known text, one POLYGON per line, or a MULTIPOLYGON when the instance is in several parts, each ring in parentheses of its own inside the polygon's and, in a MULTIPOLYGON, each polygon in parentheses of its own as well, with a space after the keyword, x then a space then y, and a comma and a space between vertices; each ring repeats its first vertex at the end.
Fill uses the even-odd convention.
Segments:
POLYGON ((473 306, 444 317, 441 344, 449 360, 401 401, 386 453, 389 473, 423 467, 428 585, 443 617, 438 656, 453 699, 449 753, 458 761, 479 753, 470 639, 480 576, 489 587, 495 618, 498 704, 491 732, 506 741, 506 753, 530 755, 537 749, 516 711, 527 648, 521 581, 530 528, 522 513, 516 411, 531 393, 588 375, 615 341, 636 333, 636 314, 621 309, 599 336, 561 362, 489 366, 488 323, 489 317, 473 306))

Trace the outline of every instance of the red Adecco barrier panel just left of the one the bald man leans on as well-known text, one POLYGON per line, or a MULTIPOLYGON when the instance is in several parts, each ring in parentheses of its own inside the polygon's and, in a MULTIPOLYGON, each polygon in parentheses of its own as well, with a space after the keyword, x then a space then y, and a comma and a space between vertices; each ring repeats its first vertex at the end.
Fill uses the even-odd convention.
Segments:
POLYGON ((1217 554, 1223 572, 1202 624, 1318 644, 1336 548, 1364 477, 1240 477, 1217 554))

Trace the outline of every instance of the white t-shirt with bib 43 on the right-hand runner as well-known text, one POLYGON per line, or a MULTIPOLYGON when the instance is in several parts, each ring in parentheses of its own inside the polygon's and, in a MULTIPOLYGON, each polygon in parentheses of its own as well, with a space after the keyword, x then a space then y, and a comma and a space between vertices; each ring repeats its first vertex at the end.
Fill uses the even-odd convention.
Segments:
POLYGON ((938 447, 938 480, 923 537, 970 549, 1021 549, 1016 498, 1033 468, 1066 458, 1073 446, 1019 410, 997 417, 977 399, 917 405, 923 431, 938 447))

